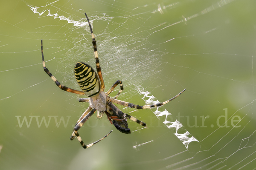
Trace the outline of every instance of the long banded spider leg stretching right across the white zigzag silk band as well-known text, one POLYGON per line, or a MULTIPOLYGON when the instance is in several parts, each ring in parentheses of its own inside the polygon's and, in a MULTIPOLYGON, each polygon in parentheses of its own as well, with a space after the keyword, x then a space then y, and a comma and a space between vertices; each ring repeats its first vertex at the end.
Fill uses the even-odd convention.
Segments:
POLYGON ((120 101, 120 100, 110 98, 110 97, 108 97, 108 101, 116 103, 116 104, 120 104, 120 105, 123 105, 123 106, 126 106, 126 107, 132 107, 132 108, 135 108, 135 109, 148 109, 148 108, 160 107, 164 104, 167 104, 169 101, 172 101, 173 99, 177 98, 185 90, 186 89, 183 89, 179 94, 177 94, 175 97, 169 99, 168 101, 164 101, 163 103, 151 104, 151 105, 140 106, 140 105, 137 105, 137 104, 128 103, 126 101, 120 101))

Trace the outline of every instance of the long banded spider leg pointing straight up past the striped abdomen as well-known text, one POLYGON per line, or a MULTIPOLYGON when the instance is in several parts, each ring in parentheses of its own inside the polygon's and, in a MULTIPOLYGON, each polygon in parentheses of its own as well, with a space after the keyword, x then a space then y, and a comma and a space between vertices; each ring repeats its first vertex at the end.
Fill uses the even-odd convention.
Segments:
POLYGON ((90 21, 89 21, 89 18, 87 17, 87 14, 84 13, 86 18, 87 18, 87 21, 89 23, 89 26, 90 26, 90 32, 92 34, 92 38, 93 38, 93 50, 94 50, 94 55, 95 55, 95 60, 96 60, 96 69, 97 69, 97 73, 99 75, 99 80, 100 80, 100 83, 101 83, 101 90, 104 91, 105 89, 105 84, 104 84, 104 81, 103 81, 103 77, 102 77, 102 72, 101 72, 101 68, 99 66, 99 57, 98 57, 98 51, 97 51, 97 45, 96 45, 96 40, 95 40, 95 37, 94 37, 94 34, 93 34, 93 30, 92 30, 92 27, 90 25, 90 21))

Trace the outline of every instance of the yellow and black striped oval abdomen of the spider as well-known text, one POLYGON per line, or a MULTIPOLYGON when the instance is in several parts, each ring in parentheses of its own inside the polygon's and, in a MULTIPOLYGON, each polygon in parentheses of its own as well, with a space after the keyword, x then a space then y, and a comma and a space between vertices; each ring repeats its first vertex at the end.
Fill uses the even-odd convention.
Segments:
POLYGON ((83 62, 77 62, 75 66, 76 81, 88 97, 93 97, 100 92, 100 81, 97 73, 91 66, 83 62))

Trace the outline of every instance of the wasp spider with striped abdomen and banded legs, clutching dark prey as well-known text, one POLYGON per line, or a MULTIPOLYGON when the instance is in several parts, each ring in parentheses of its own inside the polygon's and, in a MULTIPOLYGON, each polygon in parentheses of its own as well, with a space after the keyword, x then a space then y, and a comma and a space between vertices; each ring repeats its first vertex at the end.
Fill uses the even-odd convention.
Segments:
POLYGON ((67 86, 61 85, 60 82, 57 81, 57 79, 52 75, 52 73, 49 72, 49 70, 46 68, 45 62, 44 62, 44 53, 43 53, 43 40, 41 40, 41 52, 42 52, 42 59, 43 59, 43 66, 44 71, 51 77, 51 79, 55 82, 55 84, 62 90, 67 92, 76 93, 79 95, 87 95, 88 98, 80 98, 79 102, 89 102, 90 106, 85 110, 85 112, 81 115, 79 120, 77 121, 73 133, 70 137, 70 140, 73 140, 75 137, 79 140, 80 144, 84 149, 87 147, 93 146, 93 144, 98 143, 99 141, 103 140, 105 137, 107 137, 112 130, 105 135, 103 138, 99 139, 98 141, 93 142, 92 144, 85 145, 82 141, 78 130, 83 126, 83 124, 93 115, 93 113, 97 110, 97 118, 101 118, 102 115, 105 113, 108 117, 108 120, 113 124, 117 130, 119 130, 122 133, 129 134, 131 133, 131 130, 128 128, 127 118, 131 119, 132 121, 137 122, 138 124, 142 126, 146 126, 146 124, 137 118, 134 118, 131 115, 128 115, 126 113, 123 113, 120 109, 118 109, 113 103, 120 104, 125 107, 132 107, 135 109, 147 109, 147 108, 153 108, 153 107, 160 107, 169 101, 172 101, 173 99, 177 98, 182 92, 185 91, 185 89, 180 92, 175 97, 169 99, 168 101, 165 101, 163 103, 158 104, 152 104, 152 105, 144 105, 139 106, 137 104, 128 103, 126 101, 120 101, 116 98, 118 95, 123 91, 123 85, 122 81, 116 81, 116 83, 111 86, 111 88, 108 90, 108 92, 104 92, 105 84, 102 78, 102 72, 101 67, 99 66, 99 58, 98 58, 98 52, 97 52, 97 46, 96 46, 96 40, 93 35, 93 30, 90 25, 90 21, 87 17, 87 14, 84 13, 88 24, 90 26, 90 32, 93 38, 93 50, 94 55, 96 59, 96 70, 97 73, 93 70, 91 66, 89 66, 87 63, 83 62, 77 62, 75 65, 75 78, 77 83, 79 84, 82 91, 71 89, 67 86), (116 86, 120 86, 120 90, 117 93, 117 95, 114 98, 109 97, 108 95, 113 91, 116 86))

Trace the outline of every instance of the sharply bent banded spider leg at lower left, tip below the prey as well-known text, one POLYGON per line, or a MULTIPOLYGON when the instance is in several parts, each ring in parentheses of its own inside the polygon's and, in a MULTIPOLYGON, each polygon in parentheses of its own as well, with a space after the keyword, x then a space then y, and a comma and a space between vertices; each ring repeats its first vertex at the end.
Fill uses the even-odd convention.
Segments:
MULTIPOLYGON (((89 110, 91 109, 90 107, 88 108, 89 110)), ((87 109, 87 110, 88 110, 87 109)), ((87 110, 85 112, 87 112, 87 110)), ((73 134, 71 135, 70 137, 70 140, 73 140, 73 138, 76 136, 76 138, 78 139, 78 141, 80 142, 80 144, 82 145, 82 147, 84 149, 88 148, 88 147, 91 147, 93 146, 94 144, 98 143, 99 141, 102 141, 104 138, 106 138, 111 132, 112 130, 107 134, 105 135, 103 138, 99 139, 98 141, 95 141, 91 144, 88 144, 88 145, 85 145, 84 142, 82 141, 82 138, 81 136, 79 135, 79 133, 77 132, 82 126, 83 124, 93 115, 93 113, 96 111, 96 109, 92 109, 87 115, 85 115, 82 120, 76 124, 76 126, 74 127, 74 132, 73 134)))

